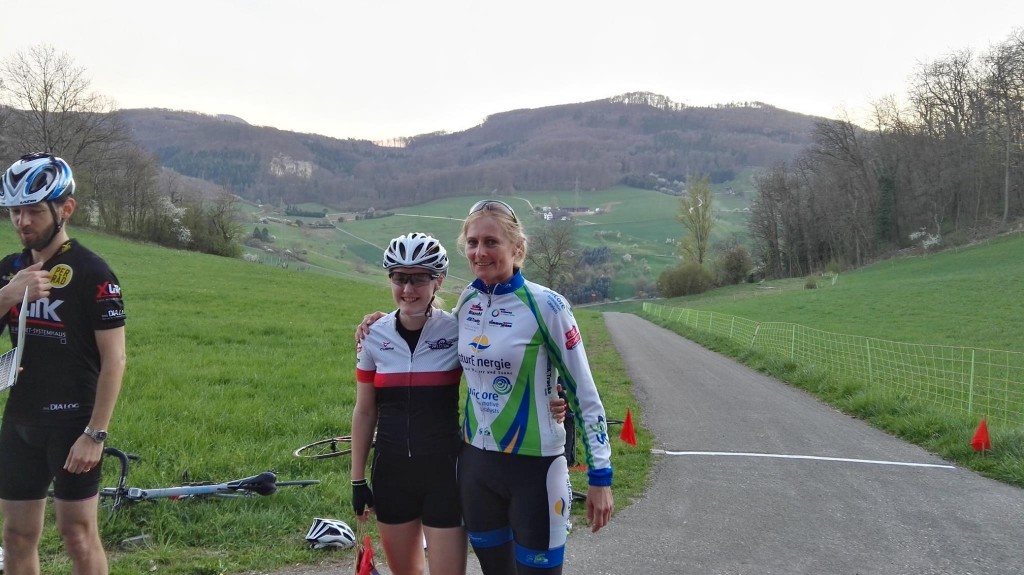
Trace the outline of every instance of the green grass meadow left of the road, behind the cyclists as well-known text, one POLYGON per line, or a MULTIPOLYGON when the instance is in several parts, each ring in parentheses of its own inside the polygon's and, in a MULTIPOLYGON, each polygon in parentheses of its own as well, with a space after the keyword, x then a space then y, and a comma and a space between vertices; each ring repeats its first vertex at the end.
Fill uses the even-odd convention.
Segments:
MULTIPOLYGON (((292 451, 349 430, 352 330, 368 311, 390 309, 384 277, 352 282, 81 229, 72 234, 106 258, 125 294, 128 368, 109 443, 141 455, 131 486, 168 487, 183 477, 225 481, 271 469, 283 481, 323 482, 269 497, 128 507, 102 523, 112 573, 213 575, 350 562, 350 551, 311 551, 302 540, 313 517, 354 521, 347 458, 300 460, 292 451), (139 535, 147 545, 121 547, 139 535)), ((0 234, 0 251, 16 249, 10 230, 0 234)), ((636 412, 600 316, 578 317, 609 415, 636 412)), ((639 430, 638 438, 636 448, 614 442, 623 503, 639 495, 647 477, 649 436, 639 430)), ((573 473, 584 485, 582 473, 573 473)), ((70 573, 52 517, 47 523, 42 571, 70 573)))

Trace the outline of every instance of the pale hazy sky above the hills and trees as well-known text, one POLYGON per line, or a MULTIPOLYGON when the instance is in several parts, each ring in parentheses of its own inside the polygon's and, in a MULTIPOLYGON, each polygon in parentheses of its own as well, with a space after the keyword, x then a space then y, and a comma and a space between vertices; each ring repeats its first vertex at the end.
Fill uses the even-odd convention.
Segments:
POLYGON ((50 44, 120 107, 230 114, 372 140, 456 132, 490 114, 631 91, 691 105, 758 100, 828 118, 845 109, 857 119, 871 101, 902 96, 921 62, 985 51, 1024 27, 1024 0, 16 6, 0 18, 0 58, 50 44))

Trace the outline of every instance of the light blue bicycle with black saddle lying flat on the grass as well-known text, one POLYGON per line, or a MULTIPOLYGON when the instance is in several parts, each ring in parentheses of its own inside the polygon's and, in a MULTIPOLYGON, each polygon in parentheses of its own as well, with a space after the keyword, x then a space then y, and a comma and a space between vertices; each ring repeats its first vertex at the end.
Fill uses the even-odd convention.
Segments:
POLYGON ((252 495, 270 495, 280 487, 307 487, 319 484, 315 479, 295 481, 278 481, 278 474, 266 471, 251 477, 233 481, 187 482, 176 487, 140 488, 128 487, 128 469, 130 461, 139 460, 134 453, 125 453, 116 447, 104 447, 104 456, 118 459, 120 470, 116 487, 103 487, 99 490, 100 507, 109 510, 111 515, 126 504, 155 499, 184 499, 196 497, 244 497, 252 495))

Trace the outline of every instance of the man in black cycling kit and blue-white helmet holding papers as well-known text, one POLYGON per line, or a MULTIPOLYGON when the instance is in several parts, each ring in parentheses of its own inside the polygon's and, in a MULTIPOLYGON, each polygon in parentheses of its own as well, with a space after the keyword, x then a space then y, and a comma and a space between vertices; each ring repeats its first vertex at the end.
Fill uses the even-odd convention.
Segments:
POLYGON ((0 310, 17 341, 28 292, 22 372, 0 424, 0 512, 7 575, 38 575, 46 492, 72 572, 108 573, 97 492, 106 429, 125 368, 125 312, 106 263, 69 238, 75 179, 33 153, 3 175, 0 207, 25 250, 0 261, 0 310))

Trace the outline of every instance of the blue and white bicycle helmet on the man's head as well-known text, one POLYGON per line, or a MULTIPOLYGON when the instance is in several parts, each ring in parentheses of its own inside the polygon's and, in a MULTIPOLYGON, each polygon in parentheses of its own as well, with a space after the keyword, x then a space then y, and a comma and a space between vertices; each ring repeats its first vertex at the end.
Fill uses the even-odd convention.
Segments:
POLYGON ((67 162, 52 153, 30 153, 4 172, 0 206, 16 208, 60 202, 74 194, 75 178, 67 162))

